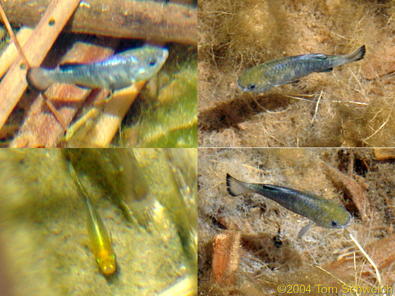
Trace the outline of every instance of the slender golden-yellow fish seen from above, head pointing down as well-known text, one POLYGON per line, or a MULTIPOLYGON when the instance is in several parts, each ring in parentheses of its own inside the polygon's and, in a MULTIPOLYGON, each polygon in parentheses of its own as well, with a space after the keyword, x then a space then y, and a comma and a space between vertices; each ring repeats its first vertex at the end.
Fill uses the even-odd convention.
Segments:
POLYGON ((80 195, 85 201, 88 211, 86 226, 88 229, 92 253, 95 256, 97 265, 103 274, 110 275, 116 270, 115 254, 111 243, 110 233, 107 231, 106 226, 104 226, 103 221, 94 209, 85 187, 79 182, 71 162, 69 163, 69 170, 78 187, 80 195))

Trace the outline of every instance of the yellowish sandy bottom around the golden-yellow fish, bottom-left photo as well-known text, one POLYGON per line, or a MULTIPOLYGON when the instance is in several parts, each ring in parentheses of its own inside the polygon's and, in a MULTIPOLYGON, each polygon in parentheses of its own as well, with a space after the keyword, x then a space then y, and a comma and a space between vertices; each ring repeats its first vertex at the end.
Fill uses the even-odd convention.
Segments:
MULTIPOLYGON (((133 151, 151 194, 164 206, 170 224, 161 232, 127 225, 122 212, 110 200, 110 190, 83 177, 93 206, 111 232, 117 272, 109 277, 99 272, 90 251, 86 207, 69 175, 65 150, 0 151, 0 269, 7 283, 4 289, 8 289, 1 295, 157 295, 196 274, 186 251, 188 234, 180 228, 180 221, 193 216, 187 216, 187 204, 182 210, 184 217, 178 217, 180 211, 171 209, 175 203, 169 200, 178 200, 182 194, 170 181, 172 174, 165 151, 133 151)), ((89 153, 89 149, 85 152, 89 153)), ((185 167, 196 169, 196 149, 180 154, 191 157, 185 167)), ((106 178, 101 176, 103 172, 96 173, 106 178)), ((184 177, 196 181, 196 172, 184 177)), ((151 226, 155 229, 155 221, 151 226)))

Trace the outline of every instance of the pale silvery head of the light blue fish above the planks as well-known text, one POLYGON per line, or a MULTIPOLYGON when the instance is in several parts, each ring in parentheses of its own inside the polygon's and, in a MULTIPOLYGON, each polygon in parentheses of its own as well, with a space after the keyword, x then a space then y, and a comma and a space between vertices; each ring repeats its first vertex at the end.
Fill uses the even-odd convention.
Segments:
POLYGON ((161 46, 144 45, 142 49, 134 54, 139 64, 134 74, 136 81, 148 80, 157 74, 169 56, 169 51, 161 46))

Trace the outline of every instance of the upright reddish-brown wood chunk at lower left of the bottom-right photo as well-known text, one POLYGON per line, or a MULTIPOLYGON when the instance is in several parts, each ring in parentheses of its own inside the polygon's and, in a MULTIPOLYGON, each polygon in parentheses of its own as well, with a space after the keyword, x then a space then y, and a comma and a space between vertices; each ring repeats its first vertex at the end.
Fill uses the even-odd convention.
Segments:
POLYGON ((234 285, 240 264, 240 231, 225 230, 213 238, 211 278, 220 286, 234 285))

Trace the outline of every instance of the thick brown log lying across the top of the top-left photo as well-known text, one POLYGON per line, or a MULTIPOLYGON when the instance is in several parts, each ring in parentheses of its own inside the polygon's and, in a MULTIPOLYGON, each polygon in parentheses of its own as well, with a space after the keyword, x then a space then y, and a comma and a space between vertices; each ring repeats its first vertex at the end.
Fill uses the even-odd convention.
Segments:
MULTIPOLYGON (((3 8, 11 24, 35 27, 48 3, 13 0, 4 1, 3 8)), ((197 9, 151 0, 82 0, 65 30, 196 45, 197 9)))

